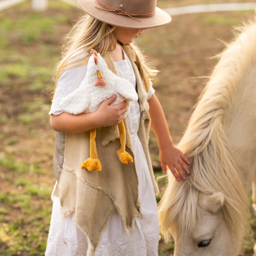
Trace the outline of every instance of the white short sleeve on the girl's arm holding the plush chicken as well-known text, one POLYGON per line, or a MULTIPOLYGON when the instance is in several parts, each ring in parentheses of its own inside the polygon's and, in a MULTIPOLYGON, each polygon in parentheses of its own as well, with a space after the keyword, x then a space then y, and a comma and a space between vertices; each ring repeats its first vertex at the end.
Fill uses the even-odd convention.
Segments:
MULTIPOLYGON (((79 55, 75 58, 81 57, 82 56, 79 55)), ((62 110, 59 105, 60 100, 79 87, 86 75, 86 72, 87 65, 83 65, 68 69, 62 73, 57 82, 57 88, 54 93, 53 102, 49 114, 59 115, 64 112, 64 110, 62 110)))

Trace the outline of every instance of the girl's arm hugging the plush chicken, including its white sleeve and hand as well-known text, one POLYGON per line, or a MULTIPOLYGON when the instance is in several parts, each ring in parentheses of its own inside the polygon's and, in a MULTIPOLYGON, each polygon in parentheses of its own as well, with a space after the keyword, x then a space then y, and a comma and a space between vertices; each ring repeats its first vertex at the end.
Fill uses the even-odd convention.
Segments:
MULTIPOLYGON (((72 62, 86 57, 88 53, 81 53, 74 57, 72 62)), ((88 114, 72 115, 64 112, 59 105, 60 100, 72 93, 83 81, 87 73, 87 65, 70 68, 62 73, 58 79, 57 88, 53 97, 50 110, 50 123, 57 132, 79 133, 86 132, 102 126, 114 126, 124 118, 127 103, 122 102, 109 106, 115 101, 116 95, 102 102, 97 111, 88 114), (61 114, 60 114, 61 113, 61 114)))

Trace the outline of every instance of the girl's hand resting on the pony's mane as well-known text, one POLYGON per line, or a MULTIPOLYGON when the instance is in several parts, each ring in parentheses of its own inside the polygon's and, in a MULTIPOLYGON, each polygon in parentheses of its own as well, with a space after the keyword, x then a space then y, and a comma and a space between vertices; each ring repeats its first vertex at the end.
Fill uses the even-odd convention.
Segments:
POLYGON ((187 159, 185 154, 183 154, 181 150, 179 150, 176 146, 170 145, 160 149, 159 158, 163 169, 163 173, 167 172, 168 166, 177 181, 180 181, 181 178, 183 180, 186 179, 182 168, 185 170, 187 174, 190 174, 190 169, 186 165, 190 164, 190 161, 189 159, 187 159), (175 169, 177 170, 179 175, 177 174, 175 169))

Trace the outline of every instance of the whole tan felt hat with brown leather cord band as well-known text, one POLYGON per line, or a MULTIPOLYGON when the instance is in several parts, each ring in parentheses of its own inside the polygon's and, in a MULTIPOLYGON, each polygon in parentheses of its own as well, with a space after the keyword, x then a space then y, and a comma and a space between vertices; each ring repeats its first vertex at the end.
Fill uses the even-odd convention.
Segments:
POLYGON ((171 22, 170 15, 156 7, 156 0, 77 0, 93 18, 114 26, 145 29, 171 22))

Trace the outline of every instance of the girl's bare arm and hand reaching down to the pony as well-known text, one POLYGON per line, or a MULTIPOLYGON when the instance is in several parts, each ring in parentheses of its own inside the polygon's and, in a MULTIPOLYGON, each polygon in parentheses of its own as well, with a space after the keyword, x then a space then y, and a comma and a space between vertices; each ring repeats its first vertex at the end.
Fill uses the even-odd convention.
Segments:
POLYGON ((186 165, 186 163, 190 164, 190 161, 176 146, 174 146, 162 106, 160 105, 160 102, 155 94, 153 94, 148 100, 148 103, 150 106, 149 112, 151 118, 151 128, 157 138, 159 157, 163 173, 166 173, 166 166, 168 166, 177 181, 180 181, 180 177, 185 180, 186 178, 182 168, 187 174, 190 174, 190 170, 186 165), (180 177, 175 169, 179 173, 180 177))

